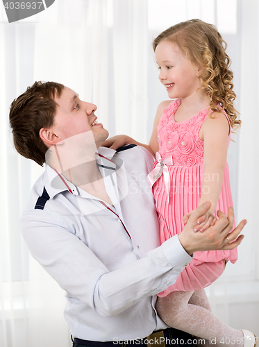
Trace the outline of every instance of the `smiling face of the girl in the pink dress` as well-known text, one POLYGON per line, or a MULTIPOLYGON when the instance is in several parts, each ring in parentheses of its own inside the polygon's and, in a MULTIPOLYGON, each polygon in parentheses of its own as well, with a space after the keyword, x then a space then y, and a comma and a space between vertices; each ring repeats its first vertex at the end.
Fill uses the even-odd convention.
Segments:
POLYGON ((201 71, 183 56, 177 44, 166 40, 160 42, 156 47, 156 62, 160 69, 159 79, 165 85, 169 98, 187 98, 197 94, 197 89, 201 87, 198 78, 201 71))

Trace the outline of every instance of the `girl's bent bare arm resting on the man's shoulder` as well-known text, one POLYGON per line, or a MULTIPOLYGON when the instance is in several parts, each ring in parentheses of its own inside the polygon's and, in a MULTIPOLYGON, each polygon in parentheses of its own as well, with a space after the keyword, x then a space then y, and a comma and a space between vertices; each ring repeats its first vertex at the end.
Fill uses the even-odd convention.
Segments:
POLYGON ((162 103, 158 105, 158 110, 156 111, 156 117, 153 123, 153 132, 151 134, 149 144, 137 142, 135 139, 127 135, 116 135, 110 137, 110 139, 106 139, 102 146, 110 147, 111 149, 119 149, 119 147, 125 146, 126 144, 137 144, 137 146, 145 147, 151 154, 153 154, 153 156, 156 156, 156 152, 158 152, 159 149, 157 126, 160 118, 162 117, 162 112, 164 112, 165 108, 167 108, 171 102, 172 100, 162 101, 162 103))

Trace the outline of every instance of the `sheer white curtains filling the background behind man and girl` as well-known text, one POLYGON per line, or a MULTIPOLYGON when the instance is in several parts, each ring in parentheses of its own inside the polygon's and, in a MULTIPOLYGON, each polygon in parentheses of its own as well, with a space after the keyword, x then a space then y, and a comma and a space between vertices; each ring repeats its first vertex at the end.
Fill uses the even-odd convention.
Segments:
POLYGON ((233 328, 259 335, 258 232, 258 1, 56 0, 47 10, 8 24, 0 5, 0 344, 71 346, 62 316, 62 289, 28 253, 19 217, 44 169, 18 155, 8 107, 35 81, 64 83, 96 103, 110 135, 148 142, 167 93, 158 81, 151 41, 168 26, 200 18, 216 24, 233 60, 242 130, 229 164, 237 221, 247 218, 240 260, 208 289, 213 310, 233 328))

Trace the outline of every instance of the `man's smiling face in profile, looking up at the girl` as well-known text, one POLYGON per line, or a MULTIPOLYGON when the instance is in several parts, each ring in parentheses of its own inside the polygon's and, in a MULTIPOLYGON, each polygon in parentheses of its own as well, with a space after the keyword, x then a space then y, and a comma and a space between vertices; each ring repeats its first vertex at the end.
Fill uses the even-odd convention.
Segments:
POLYGON ((81 101, 78 94, 68 87, 62 90, 60 97, 54 100, 58 104, 51 131, 60 141, 92 131, 94 142, 99 148, 109 135, 101 123, 97 123, 94 111, 97 106, 81 101))

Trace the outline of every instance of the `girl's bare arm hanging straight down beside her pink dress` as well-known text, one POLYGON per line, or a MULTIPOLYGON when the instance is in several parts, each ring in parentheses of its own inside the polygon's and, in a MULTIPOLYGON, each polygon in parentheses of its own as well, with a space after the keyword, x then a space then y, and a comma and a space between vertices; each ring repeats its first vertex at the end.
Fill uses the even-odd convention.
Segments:
POLYGON ((212 117, 207 117, 204 121, 199 133, 204 142, 203 182, 199 205, 205 203, 205 201, 211 202, 207 214, 208 219, 199 226, 201 231, 206 230, 214 219, 214 212, 224 179, 229 131, 226 115, 223 112, 213 112, 212 117))

